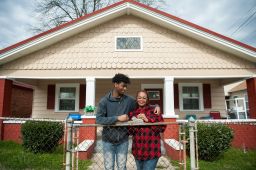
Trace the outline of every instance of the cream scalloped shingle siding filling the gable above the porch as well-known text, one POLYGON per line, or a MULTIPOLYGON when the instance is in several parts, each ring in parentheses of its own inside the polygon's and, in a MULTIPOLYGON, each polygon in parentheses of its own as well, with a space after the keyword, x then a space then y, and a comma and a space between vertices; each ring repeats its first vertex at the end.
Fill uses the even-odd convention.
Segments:
POLYGON ((252 62, 125 15, 9 62, 0 76, 223 76, 252 75, 254 69, 252 62), (122 35, 142 36, 143 51, 115 51, 115 36, 122 35))

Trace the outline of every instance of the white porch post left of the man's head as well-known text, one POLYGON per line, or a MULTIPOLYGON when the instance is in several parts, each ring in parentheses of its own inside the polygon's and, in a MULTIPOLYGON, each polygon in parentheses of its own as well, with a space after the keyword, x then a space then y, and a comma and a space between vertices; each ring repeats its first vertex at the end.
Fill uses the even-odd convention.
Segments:
POLYGON ((95 77, 86 77, 86 106, 95 106, 95 77))

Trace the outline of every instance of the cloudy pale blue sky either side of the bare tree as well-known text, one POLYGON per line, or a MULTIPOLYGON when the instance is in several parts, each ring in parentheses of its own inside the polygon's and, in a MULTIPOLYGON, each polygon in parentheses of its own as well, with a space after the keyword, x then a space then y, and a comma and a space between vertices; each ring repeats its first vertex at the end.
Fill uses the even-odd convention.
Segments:
MULTIPOLYGON (((32 37, 36 0, 0 0, 0 49, 32 37)), ((256 0, 165 0, 161 10, 256 47, 256 0)))

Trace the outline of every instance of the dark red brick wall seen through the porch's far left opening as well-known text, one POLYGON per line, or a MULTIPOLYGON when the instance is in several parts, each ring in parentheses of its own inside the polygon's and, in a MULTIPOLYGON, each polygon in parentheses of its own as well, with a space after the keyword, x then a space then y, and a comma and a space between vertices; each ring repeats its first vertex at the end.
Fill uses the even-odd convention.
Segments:
POLYGON ((11 117, 31 117, 32 101, 32 89, 13 85, 11 117))

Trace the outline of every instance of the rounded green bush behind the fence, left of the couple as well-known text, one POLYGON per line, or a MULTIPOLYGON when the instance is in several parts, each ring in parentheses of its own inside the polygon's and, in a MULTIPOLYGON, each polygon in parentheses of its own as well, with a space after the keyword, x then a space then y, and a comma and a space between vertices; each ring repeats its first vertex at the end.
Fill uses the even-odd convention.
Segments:
POLYGON ((59 122, 26 121, 21 126, 23 147, 33 153, 52 152, 63 136, 59 122))

